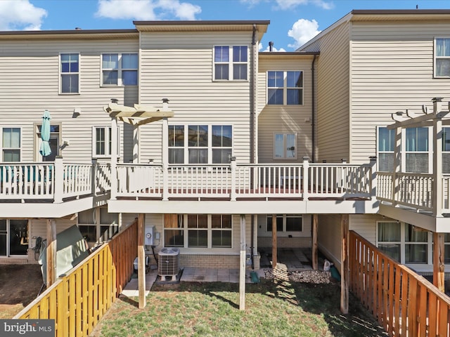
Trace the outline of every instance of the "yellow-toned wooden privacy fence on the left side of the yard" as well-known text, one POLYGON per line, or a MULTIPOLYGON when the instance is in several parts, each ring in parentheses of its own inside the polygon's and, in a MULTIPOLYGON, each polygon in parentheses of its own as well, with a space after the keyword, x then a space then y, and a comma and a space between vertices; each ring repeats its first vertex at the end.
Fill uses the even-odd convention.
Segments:
POLYGON ((137 221, 91 253, 15 319, 55 319, 56 337, 89 336, 134 270, 137 221))

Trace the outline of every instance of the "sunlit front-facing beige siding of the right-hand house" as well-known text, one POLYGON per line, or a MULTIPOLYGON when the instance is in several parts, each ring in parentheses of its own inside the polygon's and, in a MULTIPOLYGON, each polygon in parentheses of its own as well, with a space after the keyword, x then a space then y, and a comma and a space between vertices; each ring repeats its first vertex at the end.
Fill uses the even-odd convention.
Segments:
POLYGON ((392 113, 431 112, 433 97, 450 97, 450 79, 433 78, 434 37, 450 37, 450 24, 353 24, 353 162, 376 154, 376 126, 392 124, 392 113))

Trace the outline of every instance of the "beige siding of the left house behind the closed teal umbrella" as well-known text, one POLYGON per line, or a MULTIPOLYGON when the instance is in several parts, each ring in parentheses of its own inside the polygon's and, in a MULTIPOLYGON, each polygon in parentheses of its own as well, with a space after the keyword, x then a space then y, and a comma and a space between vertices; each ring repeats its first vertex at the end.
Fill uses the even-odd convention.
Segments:
MULTIPOLYGON (((110 125, 103 106, 117 98, 121 104, 137 103, 137 87, 101 87, 101 54, 138 52, 138 39, 1 41, 0 115, 2 126, 22 126, 22 160, 34 158, 33 123, 41 123, 44 110, 51 122, 62 124, 62 138, 70 145, 61 152, 67 161, 90 161, 92 126, 110 125), (79 53, 79 94, 59 94, 60 53, 79 53), (81 109, 73 117, 75 108, 81 109)), ((121 131, 124 128, 121 126, 121 131)), ((122 142, 120 157, 123 157, 122 142)), ((128 150, 127 150, 128 151, 128 150)))

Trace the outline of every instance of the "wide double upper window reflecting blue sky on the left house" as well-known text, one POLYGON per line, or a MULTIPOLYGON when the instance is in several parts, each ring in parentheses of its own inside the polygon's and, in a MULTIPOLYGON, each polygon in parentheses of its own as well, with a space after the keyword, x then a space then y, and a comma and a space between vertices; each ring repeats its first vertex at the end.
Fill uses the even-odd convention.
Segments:
POLYGON ((137 86, 138 84, 137 53, 103 54, 101 69, 104 86, 137 86))

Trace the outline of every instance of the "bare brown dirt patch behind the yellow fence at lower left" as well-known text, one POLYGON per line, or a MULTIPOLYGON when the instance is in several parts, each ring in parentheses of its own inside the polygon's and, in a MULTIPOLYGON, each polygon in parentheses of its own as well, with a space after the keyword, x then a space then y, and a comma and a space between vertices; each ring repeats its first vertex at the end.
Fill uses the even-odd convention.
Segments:
POLYGON ((13 318, 37 297, 41 266, 0 265, 0 319, 13 318))

